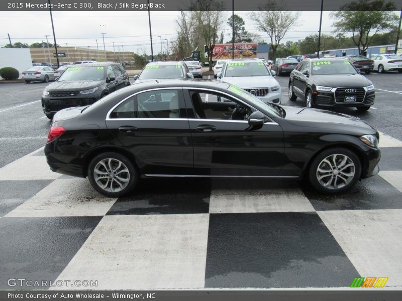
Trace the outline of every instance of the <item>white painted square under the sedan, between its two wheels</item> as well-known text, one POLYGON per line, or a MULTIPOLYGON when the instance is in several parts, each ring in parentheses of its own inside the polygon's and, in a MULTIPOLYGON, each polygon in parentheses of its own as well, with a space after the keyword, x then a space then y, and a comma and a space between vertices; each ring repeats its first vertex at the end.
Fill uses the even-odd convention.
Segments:
MULTIPOLYGON (((210 213, 312 212, 315 211, 295 183, 264 187, 264 181, 214 180, 210 213), (225 181, 225 182, 223 182, 225 181)), ((269 183, 269 180, 265 180, 269 183)))

